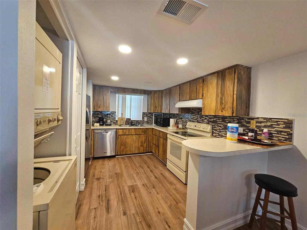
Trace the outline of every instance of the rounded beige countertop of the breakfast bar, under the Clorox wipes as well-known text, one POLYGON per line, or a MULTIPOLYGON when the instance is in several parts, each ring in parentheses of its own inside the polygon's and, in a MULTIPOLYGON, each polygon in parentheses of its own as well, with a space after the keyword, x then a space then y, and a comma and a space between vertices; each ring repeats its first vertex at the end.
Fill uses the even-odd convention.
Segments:
POLYGON ((187 151, 204 156, 233 156, 255 152, 266 152, 279 149, 292 148, 293 145, 276 146, 272 148, 261 148, 258 146, 243 144, 243 143, 230 143, 225 138, 212 138, 212 139, 189 139, 182 141, 183 148, 187 151))

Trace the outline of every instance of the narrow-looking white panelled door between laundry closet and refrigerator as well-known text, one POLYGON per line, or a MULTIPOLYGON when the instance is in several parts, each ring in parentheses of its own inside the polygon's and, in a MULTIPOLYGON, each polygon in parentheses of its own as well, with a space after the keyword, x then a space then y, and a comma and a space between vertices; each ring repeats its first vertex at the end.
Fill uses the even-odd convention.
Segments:
POLYGON ((76 133, 75 133, 75 155, 77 156, 77 188, 76 198, 78 198, 80 191, 80 156, 81 156, 81 113, 82 113, 82 82, 83 69, 77 59, 76 70, 76 133))

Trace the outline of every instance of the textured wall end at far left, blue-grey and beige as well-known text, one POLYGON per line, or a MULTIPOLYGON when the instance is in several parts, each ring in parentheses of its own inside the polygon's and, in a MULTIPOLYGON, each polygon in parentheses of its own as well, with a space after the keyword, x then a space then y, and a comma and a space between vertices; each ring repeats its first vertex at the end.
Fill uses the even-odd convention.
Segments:
POLYGON ((35 1, 0 4, 0 227, 32 229, 35 1))

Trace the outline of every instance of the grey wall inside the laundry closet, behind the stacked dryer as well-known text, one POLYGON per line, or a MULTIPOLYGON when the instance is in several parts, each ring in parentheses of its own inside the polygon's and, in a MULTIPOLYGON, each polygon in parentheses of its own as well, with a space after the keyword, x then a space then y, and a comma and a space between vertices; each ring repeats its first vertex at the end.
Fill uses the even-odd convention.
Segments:
POLYGON ((62 90, 61 90, 61 113, 63 120, 61 125, 54 128, 55 132, 47 143, 42 143, 34 149, 34 158, 56 157, 66 155, 66 135, 67 135, 67 114, 68 114, 68 94, 69 94, 69 71, 68 71, 68 40, 61 39, 51 33, 46 32, 52 42, 62 53, 62 90), (54 148, 56 146, 56 148, 54 148))

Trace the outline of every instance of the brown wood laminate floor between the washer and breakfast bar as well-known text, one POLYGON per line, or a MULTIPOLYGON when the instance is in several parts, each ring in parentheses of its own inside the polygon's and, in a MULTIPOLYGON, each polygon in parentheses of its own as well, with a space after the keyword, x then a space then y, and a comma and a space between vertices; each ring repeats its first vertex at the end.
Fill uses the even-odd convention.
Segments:
POLYGON ((187 186, 156 156, 94 159, 76 204, 76 230, 182 229, 187 186))

